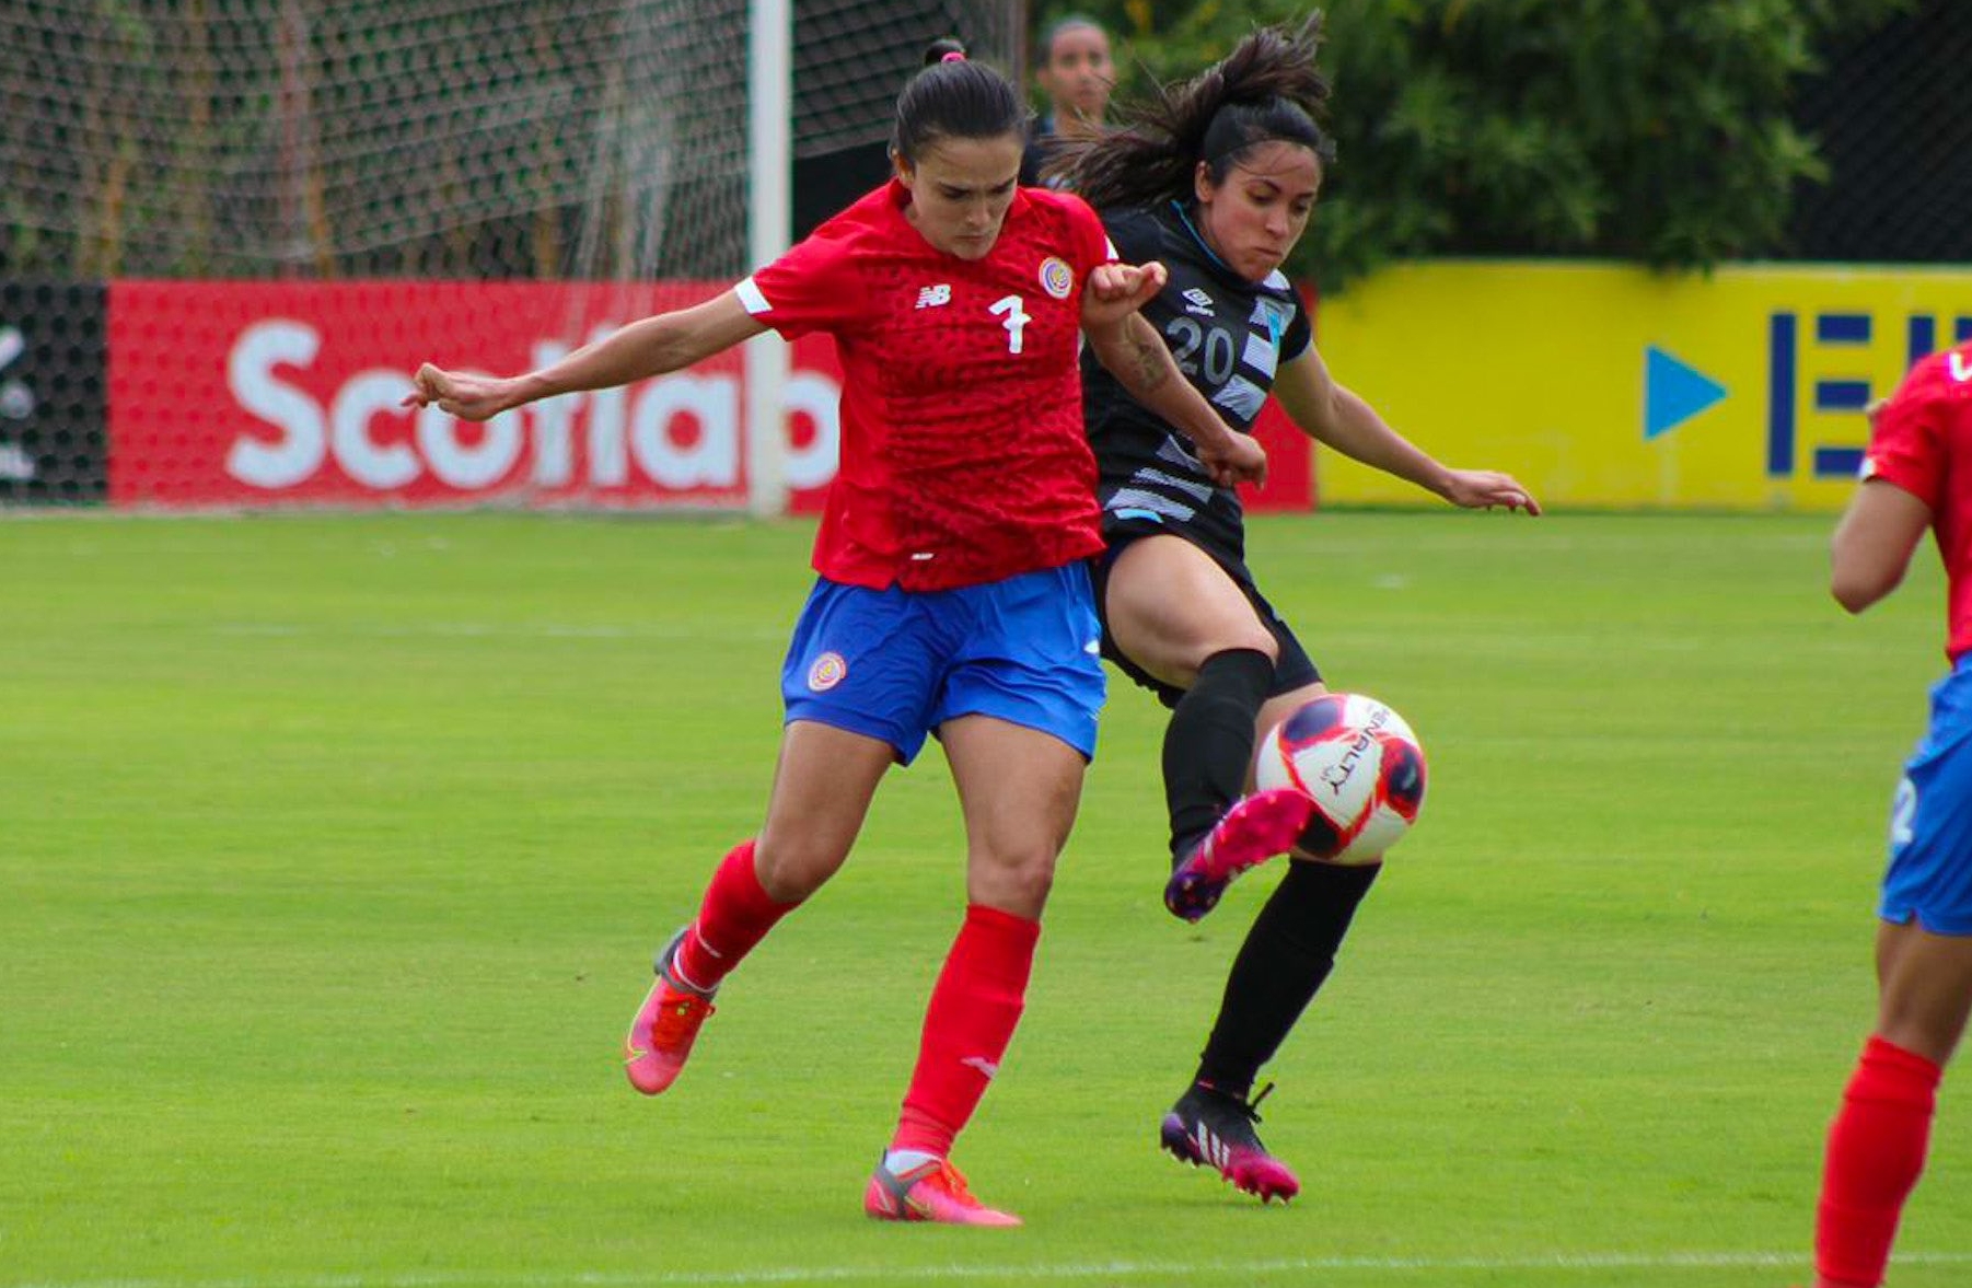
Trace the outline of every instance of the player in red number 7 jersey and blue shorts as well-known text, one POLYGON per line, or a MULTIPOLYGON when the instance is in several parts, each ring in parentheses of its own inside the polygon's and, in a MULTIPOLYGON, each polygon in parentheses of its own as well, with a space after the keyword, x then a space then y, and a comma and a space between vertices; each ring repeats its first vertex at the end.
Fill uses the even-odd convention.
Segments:
POLYGON ((659 955, 625 1067, 647 1095, 670 1087, 720 982, 834 876, 883 773, 937 734, 966 823, 966 913, 864 1191, 864 1209, 891 1221, 1020 1223, 970 1195, 951 1148, 1020 1020, 1104 696, 1077 333, 1183 426, 1219 481, 1266 467, 1136 318, 1163 268, 1114 262, 1079 197, 1018 187, 1023 126, 1014 87, 941 41, 897 99, 893 179, 785 256, 540 371, 426 365, 408 398, 483 420, 676 371, 769 327, 836 339, 842 464, 781 673, 767 819, 659 955))

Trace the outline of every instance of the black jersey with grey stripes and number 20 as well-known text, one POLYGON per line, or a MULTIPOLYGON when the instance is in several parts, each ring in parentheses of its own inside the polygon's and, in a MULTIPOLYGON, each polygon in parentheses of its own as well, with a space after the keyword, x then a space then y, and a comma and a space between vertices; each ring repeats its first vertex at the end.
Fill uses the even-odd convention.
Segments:
MULTIPOLYGON (((1175 203, 1104 211, 1102 223, 1122 262, 1160 260, 1169 270, 1163 290, 1144 306, 1144 318, 1225 422, 1252 432, 1274 389, 1274 371, 1313 339, 1300 292, 1278 270, 1258 284, 1240 278, 1211 252, 1175 203)), ((1244 558, 1238 495, 1215 485, 1191 440, 1132 398, 1087 349, 1083 420, 1100 469, 1104 523, 1156 519, 1244 558)))

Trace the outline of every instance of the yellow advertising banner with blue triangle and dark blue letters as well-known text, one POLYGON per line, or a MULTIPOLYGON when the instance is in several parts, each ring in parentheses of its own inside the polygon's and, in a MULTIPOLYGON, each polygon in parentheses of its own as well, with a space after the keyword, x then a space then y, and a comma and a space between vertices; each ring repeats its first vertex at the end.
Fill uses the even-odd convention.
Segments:
MULTIPOLYGON (((1972 270, 1735 264, 1704 276, 1422 262, 1321 302, 1337 381, 1447 465, 1544 505, 1840 509, 1862 408, 1972 337, 1972 270)), ((1323 503, 1424 503, 1319 452, 1323 503)))

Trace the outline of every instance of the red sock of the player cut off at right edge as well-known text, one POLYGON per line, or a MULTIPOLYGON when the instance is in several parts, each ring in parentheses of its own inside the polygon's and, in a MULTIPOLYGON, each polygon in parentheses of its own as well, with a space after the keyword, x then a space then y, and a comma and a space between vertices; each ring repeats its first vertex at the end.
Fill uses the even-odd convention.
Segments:
POLYGON ((1869 1038, 1828 1128, 1814 1223, 1822 1288, 1875 1288, 1889 1264, 1903 1201, 1925 1170, 1942 1069, 1869 1038))

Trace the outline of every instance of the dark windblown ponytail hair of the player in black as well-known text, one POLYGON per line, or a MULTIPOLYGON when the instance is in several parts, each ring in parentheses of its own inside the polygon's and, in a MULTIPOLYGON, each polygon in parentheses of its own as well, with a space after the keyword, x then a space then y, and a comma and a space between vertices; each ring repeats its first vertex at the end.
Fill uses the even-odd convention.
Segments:
POLYGON ((1260 28, 1191 81, 1158 87, 1148 103, 1126 107, 1122 128, 1067 140, 1045 174, 1110 209, 1187 201, 1199 162, 1223 183, 1262 142, 1302 144, 1333 162, 1335 144, 1315 124, 1329 99, 1329 81, 1315 67, 1319 45, 1319 12, 1298 30, 1260 28))

